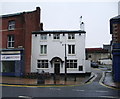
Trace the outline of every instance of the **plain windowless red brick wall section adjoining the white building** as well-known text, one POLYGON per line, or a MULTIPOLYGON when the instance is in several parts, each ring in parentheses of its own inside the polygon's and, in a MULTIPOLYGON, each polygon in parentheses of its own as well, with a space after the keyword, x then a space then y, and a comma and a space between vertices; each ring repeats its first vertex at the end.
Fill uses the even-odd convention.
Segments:
POLYGON ((33 13, 25 13, 25 72, 30 72, 31 66, 31 32, 40 30, 40 9, 33 13))

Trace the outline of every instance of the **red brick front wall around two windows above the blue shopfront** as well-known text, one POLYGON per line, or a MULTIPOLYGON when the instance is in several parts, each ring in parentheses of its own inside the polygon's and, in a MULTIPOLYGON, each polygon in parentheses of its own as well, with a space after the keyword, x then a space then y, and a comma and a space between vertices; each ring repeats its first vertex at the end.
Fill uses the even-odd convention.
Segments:
MULTIPOLYGON (((2 19, 2 48, 7 48, 7 36, 13 34, 15 36, 15 48, 24 45, 24 28, 22 26, 22 17, 9 17, 2 19), (15 30, 8 30, 8 21, 15 20, 15 30)), ((23 46, 24 47, 24 46, 23 46)))

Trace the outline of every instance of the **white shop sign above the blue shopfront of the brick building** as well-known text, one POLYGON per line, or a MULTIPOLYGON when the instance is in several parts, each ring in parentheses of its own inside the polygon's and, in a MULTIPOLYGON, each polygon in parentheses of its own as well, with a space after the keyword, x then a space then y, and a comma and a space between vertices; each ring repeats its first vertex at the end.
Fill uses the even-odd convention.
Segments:
POLYGON ((20 55, 1 55, 2 61, 21 60, 20 55))

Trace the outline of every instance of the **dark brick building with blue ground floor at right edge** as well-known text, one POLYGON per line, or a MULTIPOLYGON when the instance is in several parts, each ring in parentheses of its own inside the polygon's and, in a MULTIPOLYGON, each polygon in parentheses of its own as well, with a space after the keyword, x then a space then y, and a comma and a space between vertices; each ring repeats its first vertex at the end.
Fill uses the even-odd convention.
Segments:
POLYGON ((120 82, 120 15, 110 19, 110 34, 112 35, 113 78, 120 82))

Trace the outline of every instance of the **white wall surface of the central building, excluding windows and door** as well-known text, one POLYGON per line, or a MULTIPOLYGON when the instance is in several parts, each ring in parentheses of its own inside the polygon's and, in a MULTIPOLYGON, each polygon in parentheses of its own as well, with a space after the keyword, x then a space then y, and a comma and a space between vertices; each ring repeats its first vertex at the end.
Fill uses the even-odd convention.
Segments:
MULTIPOLYGON (((78 68, 68 68, 67 73, 85 73, 86 71, 90 71, 89 63, 85 63, 85 34, 79 35, 78 33, 75 34, 75 40, 68 40, 67 35, 63 36, 63 34, 60 34, 60 40, 55 41, 53 40, 53 34, 49 36, 47 34, 47 41, 43 42, 40 41, 40 34, 35 37, 34 34, 32 34, 32 61, 31 61, 31 72, 37 71, 37 60, 38 59, 47 59, 50 61, 53 57, 59 57, 63 61, 65 60, 64 53, 65 53, 65 46, 66 43, 66 52, 68 52, 68 44, 75 44, 76 54, 75 55, 68 55, 67 53, 67 59, 77 59, 78 60, 78 66, 83 65, 83 71, 79 71, 78 68), (47 45, 47 55, 40 55, 40 45, 47 45)), ((42 69, 40 69, 42 71, 42 69)), ((49 63, 49 68, 44 69, 45 72, 54 73, 54 68, 51 68, 51 64, 49 63)), ((63 62, 63 68, 60 68, 60 73, 64 73, 64 62, 63 62)))

